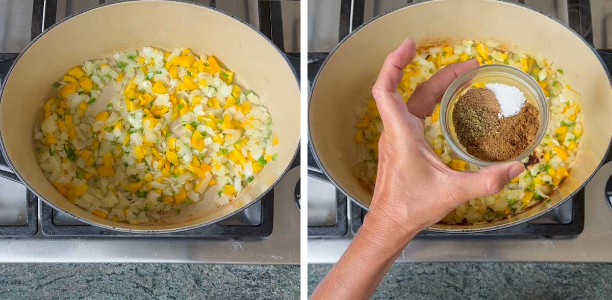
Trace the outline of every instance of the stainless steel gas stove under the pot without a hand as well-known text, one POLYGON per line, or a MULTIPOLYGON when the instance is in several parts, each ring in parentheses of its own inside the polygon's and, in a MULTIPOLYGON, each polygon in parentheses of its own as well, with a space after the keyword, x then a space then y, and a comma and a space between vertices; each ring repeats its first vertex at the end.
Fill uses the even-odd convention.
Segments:
MULTIPOLYGON (((0 82, 30 40, 104 0, 0 0, 0 82)), ((299 73, 299 1, 192 1, 230 13, 263 32, 299 73)), ((299 157, 299 156, 298 156, 299 157)), ((215 224, 163 235, 84 224, 37 199, 0 156, 0 262, 299 263, 299 159, 258 202, 215 224)))

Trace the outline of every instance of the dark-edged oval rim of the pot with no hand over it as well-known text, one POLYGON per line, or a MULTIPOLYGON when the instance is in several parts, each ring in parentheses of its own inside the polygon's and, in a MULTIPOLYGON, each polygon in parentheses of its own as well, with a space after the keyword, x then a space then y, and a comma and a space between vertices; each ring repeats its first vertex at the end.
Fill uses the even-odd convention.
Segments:
MULTIPOLYGON (((291 70, 291 73, 293 73, 293 77, 296 80, 297 89, 299 90, 299 88, 300 88, 299 77, 297 76, 296 70, 294 70, 294 68, 291 66, 291 62, 289 62, 289 59, 287 58, 286 54, 283 53, 282 51, 280 51, 280 49, 276 45, 274 45, 274 43, 269 38, 267 38, 266 35, 264 35, 261 31, 258 31, 255 27, 253 27, 251 24, 245 22, 244 20, 241 20, 240 18, 237 18, 236 16, 231 15, 230 13, 224 12, 223 10, 217 9, 215 7, 210 7, 208 5, 204 5, 204 4, 200 4, 200 3, 196 3, 196 2, 187 2, 185 0, 120 0, 120 1, 117 1, 117 2, 109 2, 109 3, 105 3, 105 4, 95 5, 94 7, 89 7, 88 9, 80 10, 79 12, 73 13, 70 16, 66 16, 61 21, 56 22, 55 24, 51 25, 51 27, 48 27, 45 31, 40 32, 40 34, 37 35, 34 39, 32 39, 32 41, 30 43, 28 43, 28 46, 23 48, 23 51, 21 51, 21 53, 17 57, 15 57, 15 61, 13 61, 13 64, 10 66, 9 71, 8 71, 8 73, 6 75, 6 78, 4 79, 4 82, 2 82, 2 85, 0 86, 0 102, 2 100, 2 93, 4 92, 4 87, 6 86, 7 79, 9 78, 10 73, 13 71, 13 68, 15 67, 15 65, 17 65, 17 62, 21 59, 21 56, 23 56, 23 54, 26 53, 26 51, 28 51, 30 46, 34 45, 34 43, 37 42, 37 40, 39 40, 40 37, 45 35, 47 32, 53 30, 56 26, 59 26, 59 24, 62 24, 65 21, 67 21, 67 20, 69 20, 69 19, 71 19, 71 18, 73 18, 75 16, 81 15, 82 13, 86 13, 86 12, 89 12, 90 10, 94 10, 94 9, 101 9, 102 7, 106 7, 106 6, 109 6, 109 5, 121 5, 121 4, 125 4, 127 2, 160 2, 160 3, 164 3, 164 2, 168 2, 168 3, 179 2, 179 3, 182 3, 182 4, 194 5, 196 7, 202 8, 202 9, 209 9, 209 10, 212 10, 212 11, 217 12, 217 13, 222 13, 223 15, 229 16, 230 18, 233 18, 234 20, 239 21, 243 25, 245 25, 248 28, 252 29, 253 31, 257 32, 259 34, 259 36, 264 38, 264 40, 266 40, 266 42, 270 43, 270 45, 274 49, 276 49, 278 54, 280 54, 280 56, 285 60, 285 63, 287 64, 287 67, 289 67, 289 70, 291 70)), ((15 169, 15 166, 13 165, 12 161, 10 160, 9 155, 7 155, 7 153, 6 153, 6 148, 4 147, 4 141, 2 141, 2 133, 0 133, 0 154, 6 160, 7 165, 10 167, 10 169, 13 172, 15 172, 15 175, 17 175, 17 178, 19 178, 21 183, 24 186, 26 186, 26 188, 28 188, 32 193, 34 193, 34 195, 36 197, 38 197, 40 200, 42 200, 43 202, 45 202, 48 205, 50 205, 50 207, 52 207, 52 208, 54 208, 56 210, 59 210, 62 213, 65 213, 65 214, 69 215, 70 217, 75 218, 78 221, 84 222, 84 223, 89 224, 89 225, 94 225, 94 226, 97 226, 97 227, 102 227, 102 228, 105 228, 105 229, 110 229, 110 230, 114 230, 114 231, 118 231, 118 232, 142 233, 142 234, 151 234, 151 235, 162 234, 162 233, 182 232, 182 231, 186 231, 186 230, 191 230, 191 229, 196 229, 196 228, 204 227, 206 225, 211 225, 211 224, 214 224, 216 222, 222 221, 223 219, 230 218, 231 216, 234 216, 235 214, 240 213, 241 211, 247 209, 248 207, 253 205, 255 202, 261 200, 261 198, 263 196, 265 196, 266 194, 271 192, 272 189, 274 189, 274 187, 278 184, 278 182, 280 180, 282 180, 283 177, 285 177, 287 172, 289 172, 289 170, 292 169, 291 166, 293 165, 293 161, 296 159, 297 153, 299 153, 299 148, 300 148, 300 143, 298 142, 296 150, 293 153, 293 158, 291 159, 291 161, 289 161, 289 164, 285 167, 285 170, 283 170, 283 172, 280 174, 280 176, 278 176, 278 178, 274 181, 274 183, 272 183, 270 188, 266 189, 266 191, 262 192, 258 197, 253 198, 250 202, 245 204, 243 207, 241 207, 241 208, 239 208, 237 210, 234 210, 232 213, 226 214, 225 216, 222 216, 220 218, 217 218, 217 219, 214 219, 214 220, 211 220, 211 221, 207 221, 207 222, 203 222, 203 223, 200 223, 200 224, 191 225, 191 226, 187 226, 187 227, 174 228, 174 229, 146 229, 146 227, 144 227, 144 226, 143 226, 144 229, 126 229, 126 228, 121 228, 121 227, 115 227, 115 226, 112 226, 112 225, 98 224, 97 222, 92 221, 90 219, 80 218, 80 217, 75 216, 74 214, 69 213, 68 211, 65 211, 62 208, 58 207, 51 200, 47 200, 47 199, 45 199, 45 197, 42 197, 39 194, 39 192, 35 191, 35 189, 32 188, 32 186, 30 186, 28 184, 28 182, 23 179, 21 174, 19 174, 19 172, 17 172, 17 169, 15 169)))

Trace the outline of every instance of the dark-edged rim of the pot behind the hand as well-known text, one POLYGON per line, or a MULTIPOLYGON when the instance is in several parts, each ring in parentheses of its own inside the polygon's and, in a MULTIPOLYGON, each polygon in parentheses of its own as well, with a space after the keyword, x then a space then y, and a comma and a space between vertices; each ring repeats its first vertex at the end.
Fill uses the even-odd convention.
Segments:
MULTIPOLYGON (((321 159, 319 158, 319 155, 316 152, 315 145, 312 142, 312 133, 310 131, 310 116, 311 116, 310 115, 310 104, 312 103, 313 91, 315 90, 316 82, 319 79, 319 75, 321 75, 321 71, 323 71, 323 68, 327 65, 327 62, 329 61, 330 57, 332 57, 334 55, 334 53, 338 50, 338 48, 340 48, 341 45, 343 45, 346 42, 346 40, 348 40, 349 38, 353 37, 354 34, 357 34, 357 32, 359 32, 365 26, 368 26, 370 23, 373 23, 374 21, 377 21, 379 18, 383 18, 384 16, 388 15, 389 13, 392 13, 392 12, 395 12, 395 11, 401 10, 401 9, 406 9, 408 7, 411 7, 412 5, 424 5, 424 4, 427 4, 427 2, 434 2, 434 1, 443 2, 443 1, 449 1, 449 0, 424 0, 424 1, 419 1, 419 2, 411 2, 411 3, 405 4, 405 5, 401 5, 400 7, 397 7, 395 9, 387 10, 386 12, 383 12, 380 15, 377 15, 374 18, 371 18, 366 23, 361 24, 361 26, 357 27, 353 32, 350 32, 348 35, 346 35, 346 37, 344 37, 340 42, 338 42, 338 45, 336 45, 334 47, 334 49, 332 49, 332 51, 330 51, 330 53, 327 54, 327 57, 323 61, 323 64, 321 64, 321 67, 317 71, 315 79, 313 79, 312 85, 310 86, 310 89, 308 90, 308 92, 309 92, 308 93, 308 147, 310 148, 309 150, 312 150, 313 158, 315 158, 316 163, 318 164, 319 167, 321 167, 321 171, 327 176, 327 178, 329 178, 329 180, 334 184, 334 186, 337 189, 340 189, 340 191, 343 192, 343 194, 345 194, 349 199, 353 200, 353 203, 356 203, 359 207, 364 208, 364 210, 367 210, 367 211, 370 210, 370 208, 367 205, 365 205, 364 203, 361 203, 357 199, 354 199, 353 196, 351 196, 351 194, 349 194, 344 188, 342 188, 342 186, 340 186, 338 181, 336 181, 329 174, 329 172, 327 171, 326 167, 323 166, 323 163, 321 163, 321 159)), ((542 17, 550 18, 551 20, 555 21, 556 23, 558 23, 559 25, 564 27, 564 29, 570 31, 573 35, 578 37, 584 43, 584 45, 588 46, 588 48, 591 50, 592 54, 594 54, 595 57, 597 57, 597 60, 599 60, 599 64, 601 65, 601 67, 605 71, 606 75, 608 75, 608 83, 610 84, 610 88, 612 89, 612 78, 610 78, 610 71, 608 71, 608 68, 606 67, 605 62, 603 62, 602 57, 599 55, 599 53, 597 53, 597 49, 595 49, 588 42, 586 42, 586 40, 584 40, 584 38, 580 34, 578 34, 578 32, 573 31, 572 28, 570 28, 569 26, 565 25, 564 23, 559 21, 557 18, 554 18, 553 16, 545 15, 540 10, 534 9, 533 7, 528 7, 527 5, 520 4, 518 2, 510 2, 510 0, 481 0, 481 1, 502 2, 502 4, 517 5, 518 7, 522 7, 523 9, 528 9, 528 10, 531 10, 532 12, 539 13, 542 17)), ((513 225, 518 225, 518 224, 521 224, 523 222, 527 222, 527 221, 529 221, 531 219, 535 219, 535 218, 537 218, 539 216, 542 216, 542 214, 548 213, 549 211, 554 210, 555 208, 558 208, 563 203, 565 203, 567 200, 571 199, 575 194, 577 194, 577 192, 579 192, 581 189, 583 189, 584 186, 586 186, 586 184, 589 181, 591 181, 591 179, 593 178, 593 176, 595 175, 597 170, 599 170, 599 168, 603 165, 603 163, 605 162, 606 158, 610 154, 610 147, 612 147, 612 137, 610 137, 610 141, 608 142, 608 148, 606 149, 605 154, 601 158, 599 164, 597 164, 597 167, 595 167, 595 169, 593 169, 593 171, 591 172, 591 175, 589 175, 589 177, 586 178, 586 180, 584 180, 584 182, 581 183, 581 185, 578 186, 578 188, 576 188, 569 195, 567 195, 566 197, 564 197, 563 199, 561 199, 559 202, 555 203, 554 205, 551 205, 550 207, 546 208, 545 210, 542 210, 539 213, 534 214, 533 216, 529 216, 529 217, 526 217, 526 218, 523 218, 523 219, 519 219, 517 221, 508 222, 506 224, 499 224, 499 225, 494 225, 494 226, 490 226, 490 227, 484 227, 484 228, 480 228, 480 229, 465 229, 465 228, 463 228, 463 229, 442 229, 442 228, 439 228, 439 227, 433 227, 435 225, 432 225, 430 227, 427 227, 427 229, 425 229, 425 230, 427 230, 429 232, 441 232, 441 233, 479 233, 479 232, 488 232, 488 231, 493 231, 493 230, 498 230, 498 229, 504 229, 504 228, 507 228, 507 227, 511 227, 513 225)))

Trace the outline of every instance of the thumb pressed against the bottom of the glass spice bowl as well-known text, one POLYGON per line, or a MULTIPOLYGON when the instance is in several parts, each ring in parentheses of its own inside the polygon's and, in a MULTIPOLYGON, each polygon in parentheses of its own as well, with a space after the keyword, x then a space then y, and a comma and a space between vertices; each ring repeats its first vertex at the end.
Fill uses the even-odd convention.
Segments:
POLYGON ((467 200, 493 195, 501 191, 506 183, 517 177, 525 167, 519 161, 496 164, 477 172, 462 172, 456 181, 457 200, 467 200))

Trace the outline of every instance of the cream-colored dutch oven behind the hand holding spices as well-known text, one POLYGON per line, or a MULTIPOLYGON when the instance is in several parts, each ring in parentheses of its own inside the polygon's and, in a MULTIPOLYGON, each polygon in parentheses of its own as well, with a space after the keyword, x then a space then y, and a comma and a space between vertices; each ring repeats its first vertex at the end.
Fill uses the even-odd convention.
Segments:
MULTIPOLYGON (((561 205, 584 185, 608 152, 612 136, 612 89, 599 55, 580 35, 535 10, 496 0, 419 2, 379 16, 345 38, 330 53, 310 93, 309 133, 315 157, 330 180, 368 208, 372 195, 353 175, 357 122, 354 106, 371 98, 386 55, 406 37, 431 40, 497 40, 528 53, 542 53, 563 68, 583 96, 584 135, 578 163, 551 201, 501 221, 479 225, 436 224, 438 232, 483 232, 528 221, 561 205)), ((407 166, 408 167, 408 166, 407 166)))

